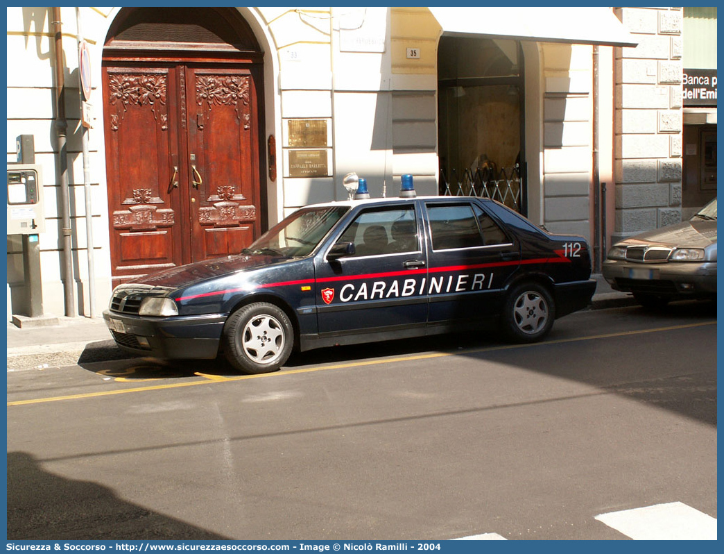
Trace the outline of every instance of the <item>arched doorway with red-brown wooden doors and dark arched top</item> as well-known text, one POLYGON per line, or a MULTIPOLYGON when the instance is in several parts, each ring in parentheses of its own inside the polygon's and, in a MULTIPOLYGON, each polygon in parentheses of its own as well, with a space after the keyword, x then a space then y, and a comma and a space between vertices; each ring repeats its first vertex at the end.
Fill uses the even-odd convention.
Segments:
POLYGON ((263 57, 232 8, 124 8, 103 56, 113 285, 266 229, 263 57))

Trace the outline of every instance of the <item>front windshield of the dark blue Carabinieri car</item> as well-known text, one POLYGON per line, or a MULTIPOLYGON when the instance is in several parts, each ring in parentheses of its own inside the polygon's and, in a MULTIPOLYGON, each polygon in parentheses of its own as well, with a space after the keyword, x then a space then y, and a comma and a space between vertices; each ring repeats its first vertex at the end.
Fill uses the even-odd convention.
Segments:
POLYGON ((302 208, 277 223, 242 252, 284 257, 308 256, 347 210, 349 207, 346 206, 302 208))

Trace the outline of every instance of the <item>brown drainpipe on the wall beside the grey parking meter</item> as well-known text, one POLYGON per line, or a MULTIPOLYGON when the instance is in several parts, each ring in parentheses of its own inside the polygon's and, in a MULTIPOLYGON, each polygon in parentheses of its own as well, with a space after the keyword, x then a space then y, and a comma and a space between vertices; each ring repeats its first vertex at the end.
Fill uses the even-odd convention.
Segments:
POLYGON ((65 315, 75 318, 75 295, 73 294, 73 252, 70 227, 70 191, 68 190, 68 152, 66 147, 68 122, 65 119, 65 77, 63 65, 63 36, 60 8, 53 8, 53 34, 55 36, 55 86, 56 120, 58 130, 58 164, 60 168, 60 191, 63 220, 63 290, 65 293, 65 315))

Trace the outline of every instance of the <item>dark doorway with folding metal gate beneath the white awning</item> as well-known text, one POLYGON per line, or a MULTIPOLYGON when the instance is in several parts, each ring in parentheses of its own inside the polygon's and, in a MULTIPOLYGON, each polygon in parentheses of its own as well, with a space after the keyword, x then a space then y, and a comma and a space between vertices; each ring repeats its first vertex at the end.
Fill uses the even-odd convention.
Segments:
POLYGON ((440 194, 490 197, 525 215, 520 42, 444 36, 437 68, 440 194))

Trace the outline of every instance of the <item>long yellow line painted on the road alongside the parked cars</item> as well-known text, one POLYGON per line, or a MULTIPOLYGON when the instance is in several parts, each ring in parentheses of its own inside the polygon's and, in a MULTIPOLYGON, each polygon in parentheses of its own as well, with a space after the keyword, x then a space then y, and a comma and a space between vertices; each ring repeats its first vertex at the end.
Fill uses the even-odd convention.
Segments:
MULTIPOLYGON (((615 336, 631 336, 631 335, 639 335, 639 334, 646 334, 646 333, 659 333, 662 331, 676 331, 679 329, 715 325, 716 323, 717 323, 716 321, 704 321, 702 323, 687 323, 686 325, 674 325, 674 326, 668 326, 668 327, 657 327, 657 328, 652 328, 652 329, 640 329, 639 331, 620 331, 618 333, 605 333, 605 334, 592 335, 592 336, 577 336, 577 337, 574 337, 571 339, 558 339, 555 341, 534 342, 531 344, 505 344, 505 345, 497 346, 497 347, 475 348, 475 349, 470 349, 470 350, 456 350, 455 352, 432 352, 429 354, 420 354, 420 355, 385 357, 385 358, 378 358, 376 360, 363 360, 361 362, 345 362, 345 363, 338 363, 338 364, 334 364, 334 365, 319 365, 319 366, 314 366, 311 368, 289 369, 286 371, 277 371, 275 373, 260 373, 259 375, 240 375, 240 376, 234 376, 234 377, 224 377, 224 376, 220 376, 220 375, 209 375, 206 373, 196 372, 196 373, 194 373, 194 375, 203 377, 203 381, 185 381, 182 383, 169 383, 169 384, 159 384, 159 385, 152 385, 152 386, 140 386, 140 387, 136 387, 133 389, 117 389, 117 390, 112 390, 112 391, 86 392, 84 394, 69 394, 67 396, 33 398, 30 400, 15 400, 13 402, 8 402, 7 405, 8 405, 8 407, 10 407, 10 406, 23 406, 23 405, 29 405, 29 404, 41 404, 43 402, 59 402, 60 400, 80 400, 83 398, 95 398, 95 397, 102 397, 102 396, 110 396, 111 394, 126 394, 129 392, 146 392, 146 391, 155 391, 155 390, 162 390, 162 389, 177 389, 178 387, 181 387, 181 386, 196 386, 196 385, 213 384, 213 383, 228 382, 228 381, 245 381, 246 379, 257 379, 257 378, 261 378, 261 377, 274 377, 274 376, 283 376, 283 375, 295 375, 297 373, 311 373, 313 371, 327 371, 330 369, 360 368, 360 367, 364 367, 366 365, 382 365, 384 363, 411 362, 411 361, 416 361, 416 360, 432 360, 437 357, 468 355, 468 354, 476 354, 479 352, 495 352, 497 350, 511 350, 513 348, 540 347, 540 346, 544 346, 546 344, 564 344, 564 343, 568 343, 568 342, 581 342, 581 341, 586 341, 586 340, 610 339, 615 336)), ((102 373, 102 372, 99 371, 98 373, 102 373)))

